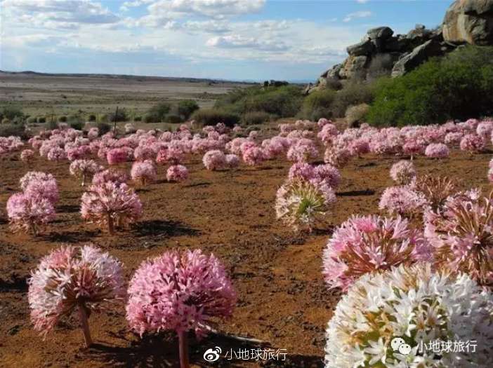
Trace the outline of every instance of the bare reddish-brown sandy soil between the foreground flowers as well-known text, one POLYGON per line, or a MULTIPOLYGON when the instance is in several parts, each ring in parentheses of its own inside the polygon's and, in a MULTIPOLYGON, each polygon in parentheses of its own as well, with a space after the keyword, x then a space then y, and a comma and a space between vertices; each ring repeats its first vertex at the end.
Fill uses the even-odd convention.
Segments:
MULTIPOLYGON (((447 160, 415 160, 419 174, 461 179, 461 186, 491 187, 486 178, 490 154, 468 156, 452 151, 447 160)), ((341 173, 337 204, 327 224, 312 234, 293 233, 275 220, 275 192, 289 170, 286 161, 269 161, 259 168, 209 172, 198 156, 189 159, 190 180, 169 184, 164 168, 160 180, 138 190, 143 200, 141 221, 110 237, 79 215, 83 189, 68 175, 68 163, 37 158, 31 168, 18 154, 0 161, 0 366, 1 367, 176 367, 178 348, 173 334, 145 336, 129 332, 124 306, 93 314, 89 320, 96 345, 82 347, 77 318, 65 320, 46 340, 29 322, 26 278, 39 259, 70 243, 95 243, 124 262, 127 278, 141 261, 173 248, 213 252, 228 268, 239 301, 230 320, 218 329, 268 341, 286 349, 287 360, 227 360, 207 363, 204 351, 258 348, 220 336, 190 341, 193 367, 323 367, 324 331, 340 292, 329 291, 322 279, 322 250, 334 226, 350 214, 378 212, 379 197, 392 184, 388 177, 396 157, 366 156, 353 160, 341 173), (5 203, 18 191, 18 180, 29 170, 55 175, 60 186, 58 219, 38 238, 8 229, 5 203)), ((129 168, 129 165, 127 165, 129 168)), ((192 337, 192 336, 191 336, 192 337)))

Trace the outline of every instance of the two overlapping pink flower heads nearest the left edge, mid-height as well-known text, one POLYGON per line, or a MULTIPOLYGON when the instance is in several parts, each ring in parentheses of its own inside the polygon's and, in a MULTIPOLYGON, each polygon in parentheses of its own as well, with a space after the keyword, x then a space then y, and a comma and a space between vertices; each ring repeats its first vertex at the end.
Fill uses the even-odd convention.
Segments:
POLYGON ((7 201, 7 215, 13 231, 31 231, 36 236, 41 226, 55 219, 58 186, 51 174, 27 172, 20 179, 22 192, 7 201))

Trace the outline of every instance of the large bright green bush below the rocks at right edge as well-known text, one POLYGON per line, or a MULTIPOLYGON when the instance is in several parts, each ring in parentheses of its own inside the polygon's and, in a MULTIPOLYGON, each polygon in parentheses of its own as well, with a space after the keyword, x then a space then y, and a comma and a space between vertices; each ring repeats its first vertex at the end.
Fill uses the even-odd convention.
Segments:
POLYGON ((444 123, 493 114, 493 48, 467 46, 380 83, 373 125, 444 123))

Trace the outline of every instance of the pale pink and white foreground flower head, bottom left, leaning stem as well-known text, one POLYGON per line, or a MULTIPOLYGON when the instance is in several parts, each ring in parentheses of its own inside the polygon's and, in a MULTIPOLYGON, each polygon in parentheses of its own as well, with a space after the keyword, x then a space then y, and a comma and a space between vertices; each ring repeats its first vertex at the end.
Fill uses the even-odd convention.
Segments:
POLYGON ((46 336, 77 308, 98 311, 124 299, 121 268, 117 259, 92 245, 61 247, 48 254, 28 280, 34 329, 46 336))

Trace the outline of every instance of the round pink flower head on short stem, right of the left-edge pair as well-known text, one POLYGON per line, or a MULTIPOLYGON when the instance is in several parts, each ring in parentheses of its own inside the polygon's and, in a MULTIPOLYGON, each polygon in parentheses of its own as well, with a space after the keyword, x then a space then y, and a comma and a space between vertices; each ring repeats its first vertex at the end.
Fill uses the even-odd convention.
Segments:
POLYGON ((142 215, 142 203, 133 189, 126 184, 103 182, 92 185, 82 194, 82 219, 106 226, 110 234, 114 226, 128 226, 142 215))

